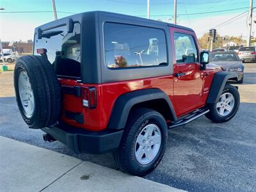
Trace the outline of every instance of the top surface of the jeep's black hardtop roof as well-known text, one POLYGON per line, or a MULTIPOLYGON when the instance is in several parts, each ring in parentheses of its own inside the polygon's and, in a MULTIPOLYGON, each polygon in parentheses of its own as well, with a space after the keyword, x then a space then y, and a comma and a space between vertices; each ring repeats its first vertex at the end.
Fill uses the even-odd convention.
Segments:
POLYGON ((81 20, 83 20, 84 17, 97 17, 97 15, 98 16, 104 15, 104 16, 108 16, 108 17, 118 17, 118 18, 124 19, 124 20, 137 20, 140 22, 144 22, 146 26, 147 26, 147 24, 155 24, 155 25, 159 25, 159 26, 171 26, 173 28, 179 28, 179 29, 184 29, 184 30, 188 30, 188 31, 193 31, 193 29, 191 29, 191 28, 186 28, 184 26, 170 24, 168 22, 162 22, 159 20, 145 19, 145 18, 135 17, 135 16, 131 16, 131 15, 124 15, 124 14, 120 14, 120 13, 111 13, 111 12, 103 12, 103 11, 77 13, 75 15, 63 17, 58 20, 53 20, 51 22, 43 24, 42 26, 38 26, 36 29, 40 28, 40 29, 42 29, 42 31, 45 31, 47 29, 56 28, 58 26, 64 25, 68 19, 72 19, 74 22, 81 22, 81 20))

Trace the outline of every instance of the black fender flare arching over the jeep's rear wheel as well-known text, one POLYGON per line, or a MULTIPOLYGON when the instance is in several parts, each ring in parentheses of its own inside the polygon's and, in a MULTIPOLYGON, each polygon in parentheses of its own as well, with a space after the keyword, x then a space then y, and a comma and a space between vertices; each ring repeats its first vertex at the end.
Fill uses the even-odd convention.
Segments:
POLYGON ((177 120, 171 100, 168 95, 158 88, 136 90, 120 95, 113 106, 108 129, 124 129, 132 106, 150 100, 164 99, 168 104, 173 120, 177 120))

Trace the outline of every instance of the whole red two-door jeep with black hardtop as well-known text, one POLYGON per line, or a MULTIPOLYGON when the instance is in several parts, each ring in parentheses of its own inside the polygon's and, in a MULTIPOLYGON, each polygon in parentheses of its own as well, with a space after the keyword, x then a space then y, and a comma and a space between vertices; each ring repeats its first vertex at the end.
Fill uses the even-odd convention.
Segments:
POLYGON ((127 173, 146 175, 168 128, 205 115, 227 122, 239 108, 236 74, 208 63, 192 29, 108 12, 35 29, 34 55, 17 60, 20 113, 45 141, 76 153, 113 152, 127 173))

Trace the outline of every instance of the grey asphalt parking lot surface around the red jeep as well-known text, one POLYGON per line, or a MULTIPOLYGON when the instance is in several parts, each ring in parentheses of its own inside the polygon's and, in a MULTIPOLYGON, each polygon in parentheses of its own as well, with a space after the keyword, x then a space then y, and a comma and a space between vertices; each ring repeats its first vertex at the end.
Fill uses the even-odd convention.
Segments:
MULTIPOLYGON (((59 142, 45 143, 43 132, 28 129, 13 92, 13 72, 0 72, 0 135, 85 161, 117 168, 111 154, 73 154, 59 142)), ((245 64, 239 86, 241 106, 225 124, 204 116, 170 129, 163 160, 145 178, 188 191, 256 191, 256 63, 245 64)))

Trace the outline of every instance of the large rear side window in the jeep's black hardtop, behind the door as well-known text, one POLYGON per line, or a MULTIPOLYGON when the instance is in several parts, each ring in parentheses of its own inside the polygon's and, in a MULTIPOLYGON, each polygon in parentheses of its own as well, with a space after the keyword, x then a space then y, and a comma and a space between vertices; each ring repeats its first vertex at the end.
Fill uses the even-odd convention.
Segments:
POLYGON ((128 24, 104 24, 105 61, 109 68, 167 65, 161 29, 128 24))

